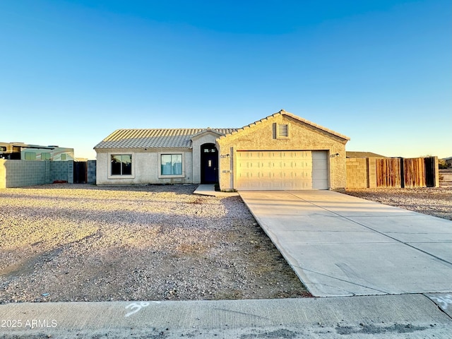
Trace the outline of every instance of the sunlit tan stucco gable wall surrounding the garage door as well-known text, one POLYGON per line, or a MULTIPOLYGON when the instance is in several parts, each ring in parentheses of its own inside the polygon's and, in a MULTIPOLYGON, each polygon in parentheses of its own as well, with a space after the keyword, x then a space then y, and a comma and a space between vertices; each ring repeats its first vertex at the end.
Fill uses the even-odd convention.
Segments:
POLYGON ((345 143, 347 140, 284 114, 269 117, 242 131, 218 138, 220 189, 236 189, 234 172, 237 150, 327 150, 330 189, 346 185, 345 143), (289 138, 275 138, 274 124, 289 124, 289 138))

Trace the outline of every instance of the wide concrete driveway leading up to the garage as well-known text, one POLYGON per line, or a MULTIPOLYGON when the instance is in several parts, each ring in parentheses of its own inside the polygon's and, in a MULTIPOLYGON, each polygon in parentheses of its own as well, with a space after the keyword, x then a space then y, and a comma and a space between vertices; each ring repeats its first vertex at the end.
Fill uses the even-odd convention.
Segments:
POLYGON ((452 292, 452 221, 333 191, 241 191, 316 297, 452 292))

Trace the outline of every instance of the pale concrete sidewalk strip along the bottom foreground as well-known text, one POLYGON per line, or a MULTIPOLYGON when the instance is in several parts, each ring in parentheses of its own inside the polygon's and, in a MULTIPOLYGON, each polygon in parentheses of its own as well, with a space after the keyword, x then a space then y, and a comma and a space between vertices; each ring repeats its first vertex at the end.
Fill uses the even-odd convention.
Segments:
POLYGON ((451 338, 452 295, 430 297, 4 304, 0 338, 451 338))

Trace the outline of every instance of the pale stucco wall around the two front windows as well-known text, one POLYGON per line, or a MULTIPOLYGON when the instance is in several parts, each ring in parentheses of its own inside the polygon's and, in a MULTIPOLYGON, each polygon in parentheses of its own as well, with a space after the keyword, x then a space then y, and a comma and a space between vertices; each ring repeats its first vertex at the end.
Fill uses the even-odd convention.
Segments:
POLYGON ((193 183, 193 157, 191 149, 184 148, 143 148, 124 149, 98 149, 96 162, 96 184, 191 184, 193 183), (184 177, 159 178, 158 154, 159 153, 183 153, 184 177), (132 154, 132 177, 109 178, 111 154, 132 154))

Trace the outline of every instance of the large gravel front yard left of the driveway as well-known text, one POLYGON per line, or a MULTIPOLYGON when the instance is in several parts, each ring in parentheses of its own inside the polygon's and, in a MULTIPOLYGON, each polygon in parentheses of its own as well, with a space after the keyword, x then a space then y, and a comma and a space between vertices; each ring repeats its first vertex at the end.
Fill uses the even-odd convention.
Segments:
POLYGON ((0 303, 309 297, 239 197, 194 189, 2 189, 0 303))

